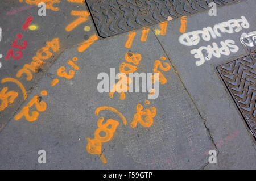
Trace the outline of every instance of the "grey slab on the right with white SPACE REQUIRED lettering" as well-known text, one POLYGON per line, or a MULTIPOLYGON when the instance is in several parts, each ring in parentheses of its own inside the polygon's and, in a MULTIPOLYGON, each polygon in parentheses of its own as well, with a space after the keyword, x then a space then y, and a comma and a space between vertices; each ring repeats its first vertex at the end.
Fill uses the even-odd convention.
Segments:
MULTIPOLYGON (((250 133, 246 130, 242 118, 214 70, 217 65, 247 54, 242 47, 240 37, 242 33, 253 32, 256 29, 254 7, 255 1, 245 1, 217 9, 217 16, 209 16, 208 12, 204 12, 187 17, 186 33, 203 30, 204 27, 213 28, 216 24, 232 19, 234 22, 235 19, 241 19, 242 16, 247 19, 250 25, 249 27, 243 24, 242 30, 234 29, 236 31, 233 31, 233 33, 230 31, 229 33, 218 31, 221 36, 216 36, 215 38, 211 37, 209 39, 209 36, 205 35, 205 40, 201 36, 198 39, 195 35, 192 46, 183 45, 179 41, 181 35, 185 36, 179 32, 179 19, 168 23, 166 36, 158 35, 157 30, 159 27, 153 28, 160 44, 167 52, 185 87, 191 94, 201 116, 205 119, 205 124, 209 128, 209 132, 219 151, 217 164, 209 164, 205 169, 256 168, 256 153, 253 140, 250 138, 250 133), (202 46, 213 46, 213 42, 221 48, 221 41, 225 42, 226 40, 233 40, 234 42, 230 42, 234 43, 233 45, 236 45, 238 49, 234 50, 235 47, 230 47, 233 52, 229 52, 229 55, 222 54, 220 58, 214 56, 210 58, 207 52, 203 50, 205 59, 209 58, 210 60, 205 60, 200 66, 196 65, 198 59, 194 57, 194 54, 191 54, 191 50, 199 49, 202 46)), ((225 23, 223 24, 226 26, 225 23)))

